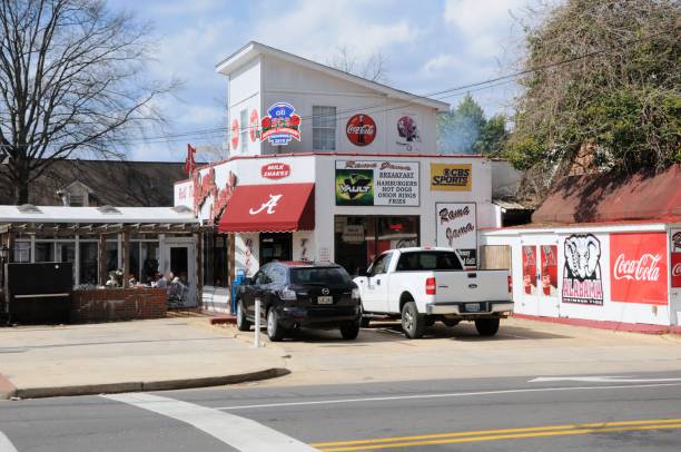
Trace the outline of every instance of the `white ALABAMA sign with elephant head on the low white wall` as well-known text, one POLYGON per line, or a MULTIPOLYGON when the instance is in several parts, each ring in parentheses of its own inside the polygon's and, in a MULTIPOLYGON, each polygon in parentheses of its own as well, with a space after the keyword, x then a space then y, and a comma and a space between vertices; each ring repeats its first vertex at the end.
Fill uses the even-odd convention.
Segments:
POLYGON ((573 234, 565 238, 563 303, 603 305, 601 242, 592 234, 573 234))

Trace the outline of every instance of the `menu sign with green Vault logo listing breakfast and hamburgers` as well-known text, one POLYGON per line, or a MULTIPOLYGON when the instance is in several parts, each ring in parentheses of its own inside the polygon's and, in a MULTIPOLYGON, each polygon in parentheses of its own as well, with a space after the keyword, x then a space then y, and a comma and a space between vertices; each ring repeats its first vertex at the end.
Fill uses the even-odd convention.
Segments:
POLYGON ((418 206, 418 163, 337 160, 336 206, 418 206))

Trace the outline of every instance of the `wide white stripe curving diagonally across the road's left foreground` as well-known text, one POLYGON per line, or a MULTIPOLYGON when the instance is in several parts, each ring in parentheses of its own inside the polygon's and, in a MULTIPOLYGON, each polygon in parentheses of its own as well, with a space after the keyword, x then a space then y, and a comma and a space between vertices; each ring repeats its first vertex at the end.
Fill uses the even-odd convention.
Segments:
POLYGON ((296 439, 249 419, 194 403, 146 393, 108 394, 102 397, 186 422, 239 451, 316 451, 296 439))

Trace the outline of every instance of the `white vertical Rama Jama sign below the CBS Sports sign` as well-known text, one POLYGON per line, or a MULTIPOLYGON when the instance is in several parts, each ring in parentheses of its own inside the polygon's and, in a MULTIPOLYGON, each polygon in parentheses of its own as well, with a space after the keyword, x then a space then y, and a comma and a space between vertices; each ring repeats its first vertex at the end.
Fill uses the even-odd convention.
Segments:
POLYGON ((475 203, 436 203, 437 246, 454 248, 464 267, 477 266, 475 203))

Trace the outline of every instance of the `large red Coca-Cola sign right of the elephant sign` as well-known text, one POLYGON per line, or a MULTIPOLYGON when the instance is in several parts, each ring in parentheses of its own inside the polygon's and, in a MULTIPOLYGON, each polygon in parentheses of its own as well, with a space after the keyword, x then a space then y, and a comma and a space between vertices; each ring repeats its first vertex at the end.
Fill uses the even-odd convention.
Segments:
POLYGON ((667 304, 665 250, 664 233, 611 234, 612 301, 667 304))

